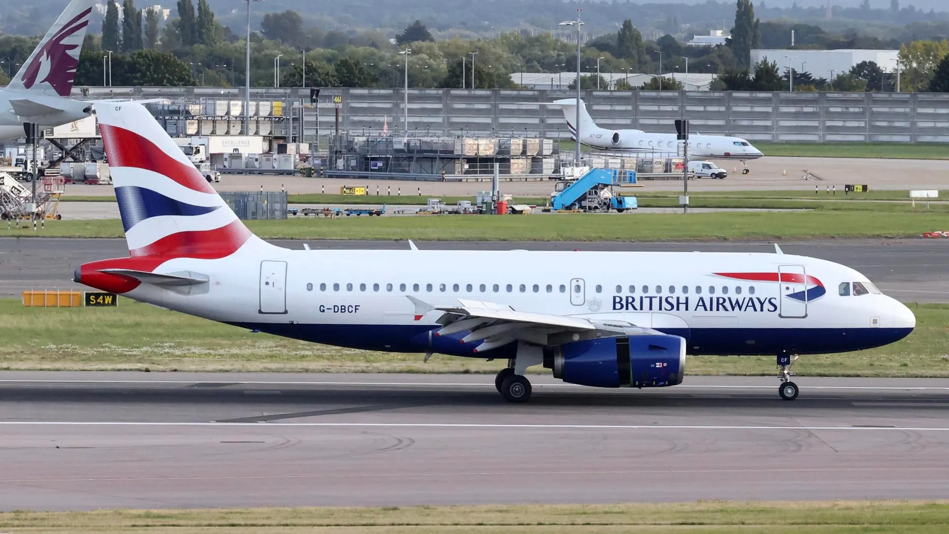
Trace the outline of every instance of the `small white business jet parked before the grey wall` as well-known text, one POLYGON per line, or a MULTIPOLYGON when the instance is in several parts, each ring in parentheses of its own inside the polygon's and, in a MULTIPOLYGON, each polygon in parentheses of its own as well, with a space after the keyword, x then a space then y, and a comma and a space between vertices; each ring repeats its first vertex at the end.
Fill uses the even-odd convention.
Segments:
MULTIPOLYGON (((577 129, 573 123, 577 117, 577 99, 568 98, 554 101, 559 105, 567 120, 571 138, 576 141, 577 129)), ((677 153, 679 141, 676 134, 648 133, 642 130, 623 129, 608 130, 601 128, 586 112, 584 101, 580 101, 580 143, 592 148, 623 152, 647 152, 667 154, 674 157, 677 153)), ((752 143, 738 137, 722 135, 689 135, 689 160, 738 160, 741 162, 742 174, 750 172, 748 160, 757 160, 764 154, 755 148, 752 143)))

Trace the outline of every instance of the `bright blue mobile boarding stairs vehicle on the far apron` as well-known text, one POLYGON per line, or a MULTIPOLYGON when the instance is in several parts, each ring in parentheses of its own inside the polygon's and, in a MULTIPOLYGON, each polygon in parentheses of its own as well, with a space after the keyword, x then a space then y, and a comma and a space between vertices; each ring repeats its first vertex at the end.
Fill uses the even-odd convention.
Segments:
POLYGON ((634 197, 613 196, 613 184, 635 181, 634 177, 632 171, 592 168, 577 180, 558 181, 550 203, 554 211, 609 211, 610 208, 616 208, 623 212, 635 209, 637 205, 634 197))

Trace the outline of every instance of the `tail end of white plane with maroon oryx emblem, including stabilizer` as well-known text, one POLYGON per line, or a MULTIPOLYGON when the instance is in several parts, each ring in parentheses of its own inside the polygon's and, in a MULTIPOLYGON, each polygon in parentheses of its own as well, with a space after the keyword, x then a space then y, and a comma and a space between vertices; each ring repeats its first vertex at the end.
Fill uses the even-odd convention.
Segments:
POLYGON ((95 0, 72 0, 9 85, 0 89, 0 141, 25 134, 25 124, 53 127, 89 116, 91 105, 70 100, 95 0))

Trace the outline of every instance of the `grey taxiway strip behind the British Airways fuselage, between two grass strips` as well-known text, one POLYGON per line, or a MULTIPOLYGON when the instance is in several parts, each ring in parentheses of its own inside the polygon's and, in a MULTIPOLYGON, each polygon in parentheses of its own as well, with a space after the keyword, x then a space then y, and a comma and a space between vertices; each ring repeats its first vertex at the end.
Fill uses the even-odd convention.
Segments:
MULTIPOLYGON (((302 249, 399 249, 405 241, 274 240, 302 249)), ((419 241, 421 249, 462 250, 587 250, 772 252, 766 241, 686 242, 512 242, 419 241)), ((820 257, 852 267, 869 277, 887 295, 904 302, 949 302, 946 243, 941 239, 811 239, 781 241, 786 254, 820 257)), ((0 296, 24 290, 83 289, 72 282, 81 263, 128 256, 124 239, 0 238, 0 296)))

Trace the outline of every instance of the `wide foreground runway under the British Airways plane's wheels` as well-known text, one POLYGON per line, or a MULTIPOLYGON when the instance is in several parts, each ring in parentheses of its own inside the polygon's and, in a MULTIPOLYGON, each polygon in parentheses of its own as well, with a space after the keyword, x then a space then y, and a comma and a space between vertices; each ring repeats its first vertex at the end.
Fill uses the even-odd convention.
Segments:
POLYGON ((949 381, 0 372, 0 510, 942 499, 949 381))

